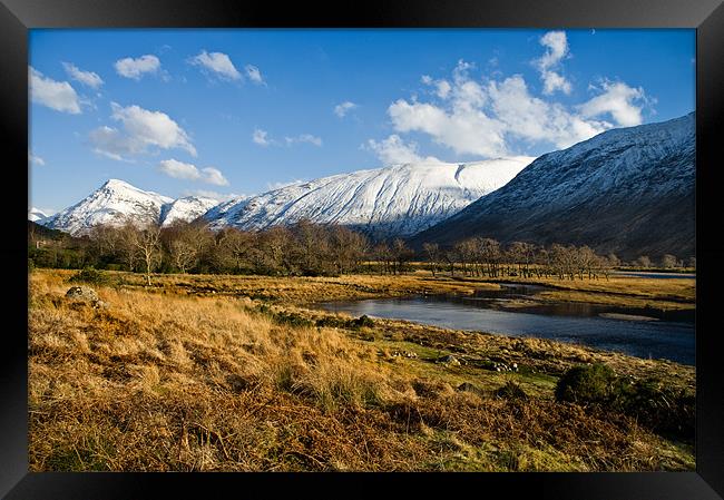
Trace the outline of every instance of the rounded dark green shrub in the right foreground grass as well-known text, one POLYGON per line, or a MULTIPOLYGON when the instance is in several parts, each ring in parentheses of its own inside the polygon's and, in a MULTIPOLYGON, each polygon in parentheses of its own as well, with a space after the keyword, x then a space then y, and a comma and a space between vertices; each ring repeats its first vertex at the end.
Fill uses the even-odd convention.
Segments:
POLYGON ((612 399, 616 374, 605 364, 574 366, 556 386, 556 399, 571 403, 605 403, 612 399))

